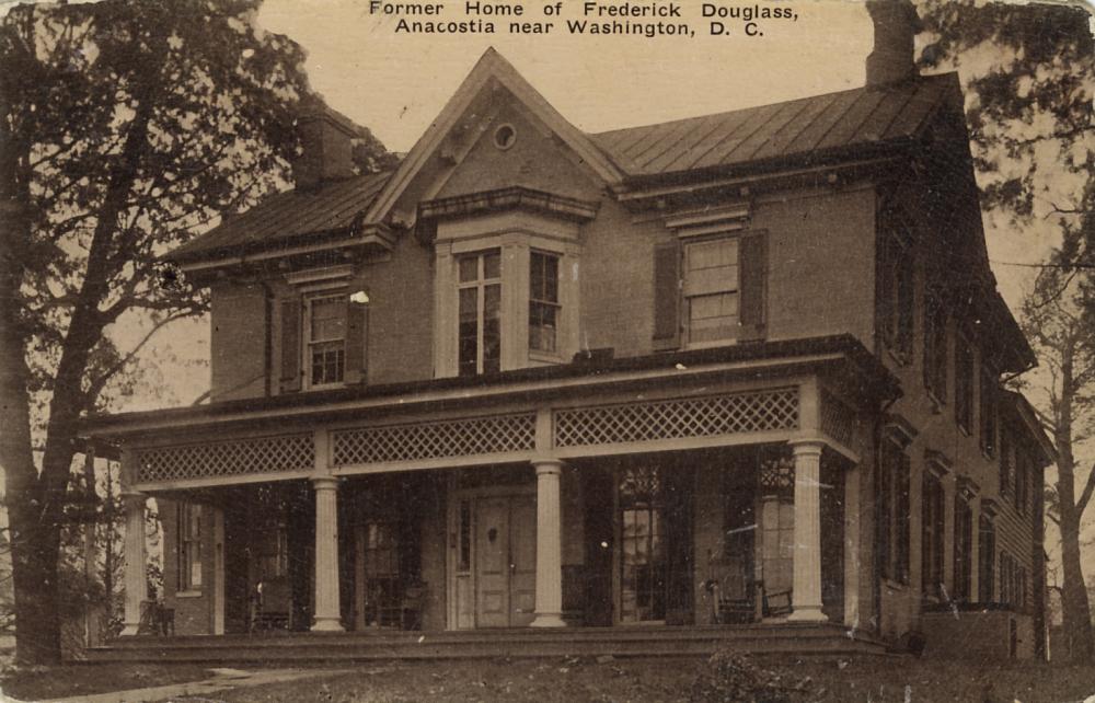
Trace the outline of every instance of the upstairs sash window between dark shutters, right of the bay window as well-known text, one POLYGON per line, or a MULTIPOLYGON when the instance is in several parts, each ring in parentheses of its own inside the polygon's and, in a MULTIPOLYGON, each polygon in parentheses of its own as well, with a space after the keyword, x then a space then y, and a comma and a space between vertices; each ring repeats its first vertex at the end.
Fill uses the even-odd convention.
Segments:
POLYGON ((684 304, 690 344, 733 339, 738 335, 739 283, 736 238, 685 246, 684 304))

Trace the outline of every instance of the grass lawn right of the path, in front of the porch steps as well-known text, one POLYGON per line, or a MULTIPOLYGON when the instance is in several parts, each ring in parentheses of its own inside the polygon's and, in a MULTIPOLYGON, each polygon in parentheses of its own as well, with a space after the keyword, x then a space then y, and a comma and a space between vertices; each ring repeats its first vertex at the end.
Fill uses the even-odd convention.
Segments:
MULTIPOLYGON (((726 689, 705 693, 698 678, 716 676, 707 662, 692 659, 541 659, 476 662, 357 665, 354 673, 220 693, 233 703, 323 701, 737 701, 726 689)), ((977 703, 1065 703, 1095 693, 1095 667, 991 665, 856 658, 838 661, 768 659, 759 664, 776 687, 758 701, 789 700, 844 703, 871 701, 975 701, 977 703), (775 664, 779 661, 780 664, 775 664), (780 699, 782 687, 795 688, 780 699), (907 699, 906 687, 909 687, 907 699)))

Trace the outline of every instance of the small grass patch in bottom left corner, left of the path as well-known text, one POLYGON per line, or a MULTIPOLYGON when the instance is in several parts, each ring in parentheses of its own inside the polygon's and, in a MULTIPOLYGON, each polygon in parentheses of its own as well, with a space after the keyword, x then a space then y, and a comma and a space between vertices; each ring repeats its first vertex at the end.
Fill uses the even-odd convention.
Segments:
POLYGON ((198 681, 211 676, 207 667, 186 664, 70 664, 0 676, 0 701, 4 694, 22 701, 41 701, 198 681))

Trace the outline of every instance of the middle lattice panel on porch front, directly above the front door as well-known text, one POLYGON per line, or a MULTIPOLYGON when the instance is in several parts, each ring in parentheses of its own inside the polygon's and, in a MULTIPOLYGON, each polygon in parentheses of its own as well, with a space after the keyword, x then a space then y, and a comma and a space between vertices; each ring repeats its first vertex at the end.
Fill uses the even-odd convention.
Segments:
POLYGON ((531 451, 535 445, 535 413, 496 415, 339 430, 332 460, 347 466, 531 451))

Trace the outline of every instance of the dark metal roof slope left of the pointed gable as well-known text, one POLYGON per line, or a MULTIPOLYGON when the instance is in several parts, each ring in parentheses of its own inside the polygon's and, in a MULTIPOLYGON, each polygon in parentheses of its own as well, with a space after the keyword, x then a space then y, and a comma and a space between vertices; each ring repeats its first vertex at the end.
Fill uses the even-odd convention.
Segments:
POLYGON ((370 173, 326 182, 315 191, 278 193, 183 244, 170 258, 211 258, 224 250, 240 254, 308 234, 348 230, 369 209, 391 175, 390 171, 370 173))

